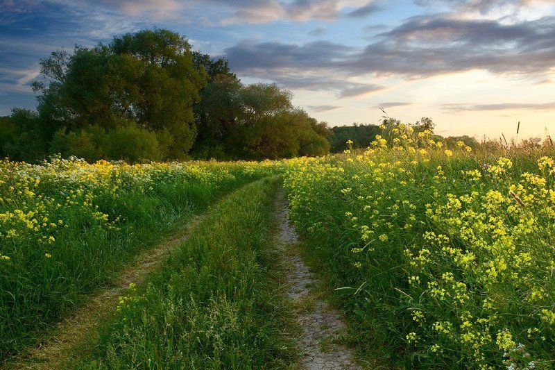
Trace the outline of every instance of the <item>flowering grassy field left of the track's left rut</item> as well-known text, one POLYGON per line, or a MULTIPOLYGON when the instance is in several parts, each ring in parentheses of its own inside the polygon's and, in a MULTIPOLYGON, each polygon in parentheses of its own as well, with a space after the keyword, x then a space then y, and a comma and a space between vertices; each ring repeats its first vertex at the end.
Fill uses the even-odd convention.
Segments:
POLYGON ((0 162, 0 360, 177 221, 278 162, 0 162))

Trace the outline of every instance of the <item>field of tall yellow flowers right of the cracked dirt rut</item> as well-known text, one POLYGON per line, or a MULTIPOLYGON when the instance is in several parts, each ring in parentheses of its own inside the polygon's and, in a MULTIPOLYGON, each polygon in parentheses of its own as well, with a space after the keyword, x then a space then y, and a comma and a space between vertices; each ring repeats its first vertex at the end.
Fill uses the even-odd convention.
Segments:
POLYGON ((447 149, 398 125, 287 169, 350 342, 407 368, 555 367, 552 149, 447 149))

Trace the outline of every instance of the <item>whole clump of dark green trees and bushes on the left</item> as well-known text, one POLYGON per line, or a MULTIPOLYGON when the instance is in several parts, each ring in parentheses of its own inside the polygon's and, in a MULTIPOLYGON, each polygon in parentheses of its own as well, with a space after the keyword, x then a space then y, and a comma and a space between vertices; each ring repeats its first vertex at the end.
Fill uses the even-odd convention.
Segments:
POLYGON ((325 155, 325 123, 275 85, 244 85, 225 59, 164 29, 55 51, 33 82, 36 110, 0 119, 0 154, 37 161, 263 159, 325 155))

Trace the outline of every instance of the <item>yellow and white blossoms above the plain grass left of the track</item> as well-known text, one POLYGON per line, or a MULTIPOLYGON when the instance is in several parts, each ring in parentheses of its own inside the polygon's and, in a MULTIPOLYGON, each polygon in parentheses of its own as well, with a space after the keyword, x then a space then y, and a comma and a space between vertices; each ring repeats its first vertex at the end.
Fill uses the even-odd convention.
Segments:
MULTIPOLYGON (((262 177, 279 171, 281 162, 169 162, 127 165, 124 162, 88 164, 53 158, 41 165, 0 162, 0 264, 14 258, 21 246, 35 245, 36 256, 55 257, 49 245, 74 218, 89 227, 118 227, 119 217, 99 210, 99 199, 119 199, 131 190, 148 194, 156 186, 200 183, 217 188, 241 176, 262 177)), ((21 256, 20 256, 21 257, 21 256)))

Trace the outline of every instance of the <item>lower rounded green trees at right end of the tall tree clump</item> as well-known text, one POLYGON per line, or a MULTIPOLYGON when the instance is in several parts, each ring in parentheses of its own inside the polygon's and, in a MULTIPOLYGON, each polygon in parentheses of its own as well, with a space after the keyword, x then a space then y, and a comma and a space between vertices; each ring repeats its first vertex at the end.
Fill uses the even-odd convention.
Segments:
POLYGON ((216 158, 276 159, 329 153, 325 124, 293 108, 291 92, 276 85, 244 86, 232 76, 217 76, 201 95, 194 150, 199 158, 215 154, 216 158))

